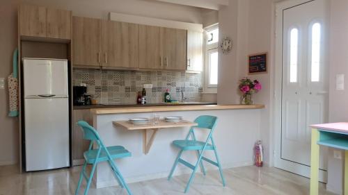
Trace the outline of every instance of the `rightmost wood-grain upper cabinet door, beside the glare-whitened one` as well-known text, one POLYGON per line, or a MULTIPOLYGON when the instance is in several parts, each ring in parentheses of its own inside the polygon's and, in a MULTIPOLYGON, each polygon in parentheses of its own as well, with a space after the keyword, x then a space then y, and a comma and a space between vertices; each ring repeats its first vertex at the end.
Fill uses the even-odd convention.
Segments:
POLYGON ((186 70, 187 31, 161 28, 161 42, 164 48, 164 69, 186 70))

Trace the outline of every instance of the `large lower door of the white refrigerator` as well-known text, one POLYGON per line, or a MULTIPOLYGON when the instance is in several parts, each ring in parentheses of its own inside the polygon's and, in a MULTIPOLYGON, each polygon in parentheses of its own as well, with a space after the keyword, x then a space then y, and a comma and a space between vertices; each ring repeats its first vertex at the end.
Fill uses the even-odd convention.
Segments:
POLYGON ((24 99, 26 171, 70 166, 68 98, 24 99))

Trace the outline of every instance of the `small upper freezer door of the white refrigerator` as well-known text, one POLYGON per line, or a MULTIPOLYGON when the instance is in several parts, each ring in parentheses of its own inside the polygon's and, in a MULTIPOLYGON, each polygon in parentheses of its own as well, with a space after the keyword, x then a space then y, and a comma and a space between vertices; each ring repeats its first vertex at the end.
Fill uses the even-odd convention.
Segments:
POLYGON ((24 59, 24 98, 68 96, 68 61, 24 59))

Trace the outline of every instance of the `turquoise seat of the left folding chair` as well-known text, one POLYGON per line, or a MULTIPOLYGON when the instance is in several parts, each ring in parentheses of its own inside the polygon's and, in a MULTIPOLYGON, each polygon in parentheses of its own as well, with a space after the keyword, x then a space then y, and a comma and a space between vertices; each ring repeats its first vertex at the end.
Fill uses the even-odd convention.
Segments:
MULTIPOLYGON (((112 159, 125 158, 132 155, 123 146, 109 146, 109 147, 106 147, 106 149, 109 151, 112 159)), ((98 149, 84 152, 84 158, 88 164, 93 164, 95 162, 95 158, 97 157, 97 152, 98 152, 98 149)), ((106 152, 102 149, 102 151, 100 151, 100 156, 97 162, 102 162, 106 160, 108 160, 106 152)))

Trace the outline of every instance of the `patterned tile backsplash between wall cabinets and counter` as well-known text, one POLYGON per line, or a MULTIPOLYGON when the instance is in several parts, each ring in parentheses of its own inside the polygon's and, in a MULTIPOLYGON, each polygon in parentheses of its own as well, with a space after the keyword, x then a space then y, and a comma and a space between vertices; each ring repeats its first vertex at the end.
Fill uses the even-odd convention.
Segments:
POLYGON ((148 103, 163 102, 166 89, 171 99, 178 101, 180 90, 187 101, 200 101, 202 93, 201 74, 175 71, 73 69, 72 80, 73 85, 86 83, 87 93, 92 94, 97 103, 106 105, 136 103, 144 84, 152 84, 152 89, 146 89, 148 103))

